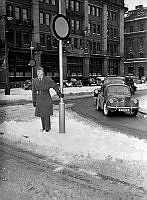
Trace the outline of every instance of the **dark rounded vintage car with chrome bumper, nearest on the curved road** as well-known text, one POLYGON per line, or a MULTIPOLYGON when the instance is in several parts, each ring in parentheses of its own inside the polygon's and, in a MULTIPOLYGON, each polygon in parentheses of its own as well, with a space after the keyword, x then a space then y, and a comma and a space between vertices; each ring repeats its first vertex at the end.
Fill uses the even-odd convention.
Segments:
POLYGON ((96 108, 103 110, 105 116, 110 116, 114 111, 123 111, 136 116, 139 101, 131 96, 129 86, 125 84, 105 84, 98 93, 96 108))

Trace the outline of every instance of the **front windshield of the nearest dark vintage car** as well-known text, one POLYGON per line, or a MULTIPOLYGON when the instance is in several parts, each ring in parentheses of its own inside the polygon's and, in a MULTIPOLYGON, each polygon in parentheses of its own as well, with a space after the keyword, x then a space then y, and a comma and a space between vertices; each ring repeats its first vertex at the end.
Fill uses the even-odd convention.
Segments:
POLYGON ((130 90, 124 85, 112 85, 108 87, 108 94, 130 95, 130 90))

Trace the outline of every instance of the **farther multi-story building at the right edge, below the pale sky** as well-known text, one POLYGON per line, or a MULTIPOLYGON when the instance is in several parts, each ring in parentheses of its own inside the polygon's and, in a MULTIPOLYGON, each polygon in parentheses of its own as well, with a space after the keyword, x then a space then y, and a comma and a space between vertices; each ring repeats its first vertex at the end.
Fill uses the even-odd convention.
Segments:
POLYGON ((147 76, 147 8, 136 6, 125 17, 125 74, 147 76))

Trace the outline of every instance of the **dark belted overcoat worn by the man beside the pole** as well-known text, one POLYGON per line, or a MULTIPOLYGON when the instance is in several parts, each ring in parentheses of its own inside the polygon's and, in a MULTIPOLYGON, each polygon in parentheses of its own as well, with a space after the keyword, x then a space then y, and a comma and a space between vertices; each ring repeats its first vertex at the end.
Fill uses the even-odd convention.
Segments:
POLYGON ((35 116, 53 115, 53 102, 49 89, 53 88, 57 93, 60 91, 57 84, 49 76, 44 76, 41 81, 38 78, 32 82, 32 100, 36 104, 35 116))

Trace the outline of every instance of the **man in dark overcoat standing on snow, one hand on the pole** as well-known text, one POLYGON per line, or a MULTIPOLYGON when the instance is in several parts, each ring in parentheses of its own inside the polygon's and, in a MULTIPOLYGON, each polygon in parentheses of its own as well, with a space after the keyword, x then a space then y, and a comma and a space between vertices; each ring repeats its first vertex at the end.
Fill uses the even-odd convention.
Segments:
POLYGON ((53 102, 49 89, 53 88, 60 98, 64 95, 51 77, 44 75, 42 67, 37 68, 37 78, 32 81, 32 101, 35 107, 35 116, 41 118, 41 131, 49 132, 51 129, 50 116, 53 115, 53 102))

